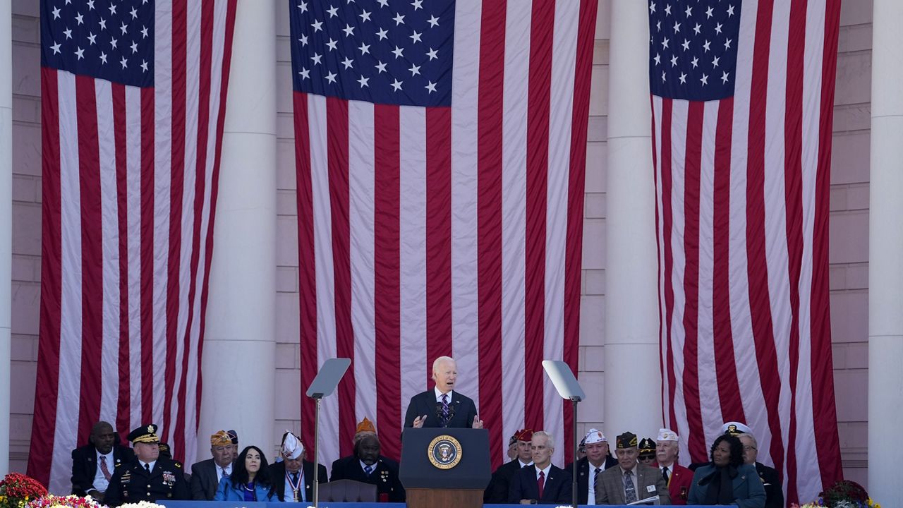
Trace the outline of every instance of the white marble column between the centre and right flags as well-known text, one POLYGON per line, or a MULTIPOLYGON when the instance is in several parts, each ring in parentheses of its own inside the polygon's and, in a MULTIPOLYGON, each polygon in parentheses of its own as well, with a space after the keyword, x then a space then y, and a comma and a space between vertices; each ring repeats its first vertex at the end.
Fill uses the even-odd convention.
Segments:
POLYGON ((625 430, 655 435, 662 408, 657 369, 637 375, 640 359, 658 357, 647 3, 610 6, 603 407, 613 439, 625 430))

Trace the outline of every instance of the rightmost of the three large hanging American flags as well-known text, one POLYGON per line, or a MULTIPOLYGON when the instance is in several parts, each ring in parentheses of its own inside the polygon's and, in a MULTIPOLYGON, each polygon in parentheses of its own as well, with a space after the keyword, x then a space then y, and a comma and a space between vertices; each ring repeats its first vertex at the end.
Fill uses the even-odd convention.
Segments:
POLYGON ((726 420, 808 502, 842 476, 828 312, 840 1, 651 0, 666 425, 726 420))

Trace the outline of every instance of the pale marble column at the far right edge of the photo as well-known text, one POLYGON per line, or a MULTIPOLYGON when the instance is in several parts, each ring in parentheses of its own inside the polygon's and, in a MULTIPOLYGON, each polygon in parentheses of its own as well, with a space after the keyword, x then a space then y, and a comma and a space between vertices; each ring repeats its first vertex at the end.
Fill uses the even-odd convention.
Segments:
POLYGON ((869 484, 882 506, 903 503, 899 455, 888 444, 903 421, 903 2, 874 0, 871 34, 869 210, 869 484))

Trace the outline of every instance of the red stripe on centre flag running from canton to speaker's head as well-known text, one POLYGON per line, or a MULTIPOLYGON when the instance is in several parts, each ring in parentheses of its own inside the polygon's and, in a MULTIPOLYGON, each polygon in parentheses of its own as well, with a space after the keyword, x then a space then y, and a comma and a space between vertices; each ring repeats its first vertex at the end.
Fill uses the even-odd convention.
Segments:
POLYGON ((426 108, 426 373, 452 356, 452 110, 426 108))

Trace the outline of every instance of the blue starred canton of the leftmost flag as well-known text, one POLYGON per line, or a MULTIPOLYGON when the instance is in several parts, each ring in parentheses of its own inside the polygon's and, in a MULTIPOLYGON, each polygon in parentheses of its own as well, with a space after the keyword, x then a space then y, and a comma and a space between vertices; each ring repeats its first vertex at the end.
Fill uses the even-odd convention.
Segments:
POLYGON ((154 0, 42 0, 41 65, 154 86, 154 0))

